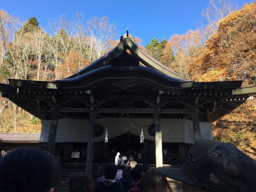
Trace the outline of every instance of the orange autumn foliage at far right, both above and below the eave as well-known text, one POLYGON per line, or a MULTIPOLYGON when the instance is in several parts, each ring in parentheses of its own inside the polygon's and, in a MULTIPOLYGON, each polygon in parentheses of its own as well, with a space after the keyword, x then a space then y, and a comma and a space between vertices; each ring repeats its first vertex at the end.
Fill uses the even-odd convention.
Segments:
MULTIPOLYGON (((210 82, 243 80, 256 84, 256 3, 220 20, 217 33, 189 67, 191 78, 210 82)), ((256 159, 256 101, 247 101, 213 123, 214 139, 231 142, 256 159)))

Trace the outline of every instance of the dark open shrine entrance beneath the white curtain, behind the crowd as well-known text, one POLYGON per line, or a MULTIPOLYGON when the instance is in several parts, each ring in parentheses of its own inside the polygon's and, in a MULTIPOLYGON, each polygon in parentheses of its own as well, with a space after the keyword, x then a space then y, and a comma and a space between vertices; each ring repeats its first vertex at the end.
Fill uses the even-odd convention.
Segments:
MULTIPOLYGON (((182 162, 179 143, 163 142, 162 145, 164 164, 180 164, 182 162)), ((140 137, 131 132, 109 139, 108 143, 95 142, 93 162, 114 162, 117 152, 127 157, 133 157, 137 163, 155 164, 155 141, 144 139, 144 143, 140 143, 140 137)))

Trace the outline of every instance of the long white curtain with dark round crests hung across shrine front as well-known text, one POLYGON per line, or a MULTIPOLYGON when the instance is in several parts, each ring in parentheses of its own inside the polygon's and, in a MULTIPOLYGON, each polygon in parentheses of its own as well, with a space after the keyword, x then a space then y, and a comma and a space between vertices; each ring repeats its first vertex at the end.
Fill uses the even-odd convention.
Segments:
MULTIPOLYGON (((98 119, 98 124, 104 127, 106 131, 107 125, 113 124, 116 119, 102 118, 98 119), (105 126, 104 126, 105 125, 105 126)), ((152 123, 152 119, 133 119, 139 125, 148 125, 152 123)), ((162 142, 172 143, 194 143, 193 125, 192 121, 185 119, 161 119, 162 129, 162 142)), ((40 136, 40 142, 48 142, 50 120, 42 120, 42 131, 40 136)), ((129 131, 138 136, 139 138, 142 132, 144 139, 155 140, 155 136, 148 133, 147 126, 135 125, 128 118, 121 118, 116 124, 111 126, 111 131, 108 132, 108 139, 115 138, 119 135, 129 131)), ((210 122, 200 122, 200 131, 202 139, 212 140, 212 131, 210 122)), ((56 134, 56 143, 58 142, 87 142, 89 133, 89 120, 80 119, 60 119, 58 121, 58 128, 56 134)), ((95 142, 105 141, 105 134, 94 138, 95 142)))

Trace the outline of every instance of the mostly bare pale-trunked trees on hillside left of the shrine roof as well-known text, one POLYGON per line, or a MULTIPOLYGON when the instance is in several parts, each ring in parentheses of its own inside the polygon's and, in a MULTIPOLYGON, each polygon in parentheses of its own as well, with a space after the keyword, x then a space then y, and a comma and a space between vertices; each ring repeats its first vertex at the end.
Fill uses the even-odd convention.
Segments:
MULTIPOLYGON (((88 21, 76 13, 42 29, 36 18, 22 22, 0 11, 0 82, 7 78, 52 81, 66 78, 117 45, 108 17, 88 21), (84 25, 83 23, 86 23, 84 25), (48 31, 48 32, 46 32, 48 31)), ((136 39, 138 41, 138 39, 136 39)), ((0 97, 0 132, 40 132, 40 121, 0 97)))

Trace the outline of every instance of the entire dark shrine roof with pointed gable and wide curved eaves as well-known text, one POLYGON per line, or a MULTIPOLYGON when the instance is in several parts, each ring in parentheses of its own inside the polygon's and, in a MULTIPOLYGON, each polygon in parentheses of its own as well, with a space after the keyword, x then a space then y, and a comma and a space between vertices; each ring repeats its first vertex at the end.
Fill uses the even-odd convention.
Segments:
MULTIPOLYGON (((68 78, 54 82, 8 80, 9 84, 0 83, 2 97, 41 119, 50 118, 52 106, 58 99, 62 108, 60 118, 87 118, 88 102, 91 101, 89 93, 95 94, 99 102, 109 102, 104 109, 101 108, 103 111, 106 108, 120 111, 122 101, 131 100, 136 101, 131 111, 142 108, 148 114, 150 106, 147 102, 156 101, 161 92, 161 101, 171 103, 163 113, 172 108, 184 108, 184 114, 180 116, 185 118, 189 105, 198 102, 201 119, 208 111, 209 120, 213 122, 256 93, 256 86, 241 87, 242 81, 187 80, 139 49, 131 38, 124 38, 112 51, 68 78), (143 109, 145 107, 147 109, 143 109)), ((170 113, 170 118, 176 116, 170 113)))

